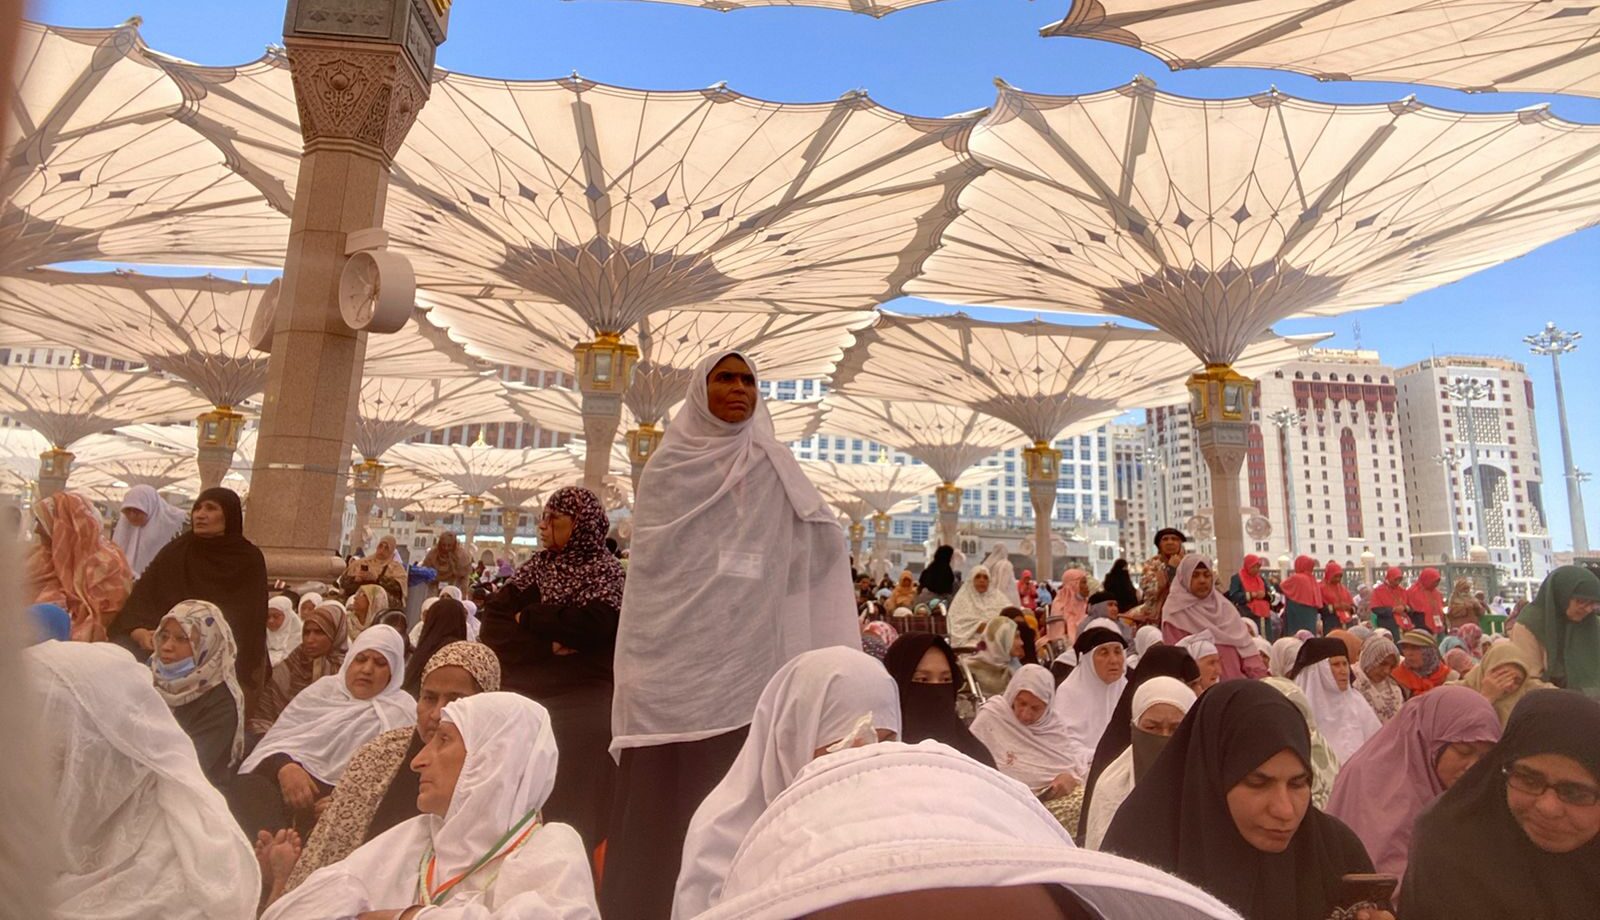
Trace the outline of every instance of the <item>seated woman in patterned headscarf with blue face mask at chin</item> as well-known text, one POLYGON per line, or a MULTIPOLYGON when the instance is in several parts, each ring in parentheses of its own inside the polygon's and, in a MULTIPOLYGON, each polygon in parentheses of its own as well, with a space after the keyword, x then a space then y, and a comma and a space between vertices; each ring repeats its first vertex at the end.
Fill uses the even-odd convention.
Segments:
POLYGON ((221 608, 186 600, 155 629, 155 691, 195 746, 200 770, 222 789, 245 755, 245 691, 234 670, 234 630, 221 608))

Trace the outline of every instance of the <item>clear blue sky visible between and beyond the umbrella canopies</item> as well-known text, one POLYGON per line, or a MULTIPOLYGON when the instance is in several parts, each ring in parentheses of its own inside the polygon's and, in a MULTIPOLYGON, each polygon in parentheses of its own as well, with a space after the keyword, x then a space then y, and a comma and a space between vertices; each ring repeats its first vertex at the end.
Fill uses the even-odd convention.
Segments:
MULTIPOLYGON (((150 46, 205 64, 254 59, 283 30, 283 0, 43 0, 30 16, 62 26, 144 19, 150 46)), ((1461 110, 1514 110, 1549 102, 1574 122, 1600 123, 1600 99, 1536 94, 1470 96, 1397 83, 1317 83, 1296 74, 1213 69, 1173 74, 1155 58, 1104 42, 1040 38, 1067 0, 944 0, 874 21, 824 10, 704 10, 637 0, 459 0, 438 62, 504 78, 565 77, 573 70, 642 88, 726 82, 779 101, 830 99, 850 90, 904 112, 947 115, 994 101, 994 78, 1024 90, 1083 93, 1144 74, 1165 90, 1237 96, 1278 86, 1322 101, 1389 101, 1414 93, 1461 110)), ((1547 358, 1522 336, 1546 322, 1595 338, 1563 362, 1578 466, 1600 474, 1600 429, 1586 397, 1600 392, 1600 227, 1522 259, 1418 294, 1403 304, 1331 320, 1285 322, 1282 333, 1331 331, 1334 347, 1378 349, 1392 365, 1438 354, 1528 360, 1538 387, 1544 490, 1557 549, 1570 549, 1566 493, 1547 358)), ((942 309, 906 299, 902 310, 942 309)), ((974 310, 976 312, 976 310, 974 310)), ((1600 480, 1597 480, 1600 482, 1600 480)), ((1586 494, 1590 544, 1600 541, 1600 488, 1586 494)))

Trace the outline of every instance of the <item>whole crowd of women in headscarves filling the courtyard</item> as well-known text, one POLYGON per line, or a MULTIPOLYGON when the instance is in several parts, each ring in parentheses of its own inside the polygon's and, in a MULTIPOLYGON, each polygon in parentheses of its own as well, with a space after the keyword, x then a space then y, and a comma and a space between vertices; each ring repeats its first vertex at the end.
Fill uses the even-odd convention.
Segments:
POLYGON ((56 914, 1600 915, 1590 570, 1504 635, 1434 570, 1278 584, 1176 530, 1102 582, 856 573, 754 363, 698 379, 627 560, 578 486, 518 566, 384 538, 299 590, 229 490, 110 538, 35 502, 56 914))

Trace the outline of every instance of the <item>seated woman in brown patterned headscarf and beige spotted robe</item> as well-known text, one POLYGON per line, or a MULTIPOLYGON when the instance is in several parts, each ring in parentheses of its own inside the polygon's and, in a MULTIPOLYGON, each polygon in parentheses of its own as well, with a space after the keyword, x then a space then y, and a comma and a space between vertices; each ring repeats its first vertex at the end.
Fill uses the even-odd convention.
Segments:
POLYGON ((453 642, 429 656, 416 699, 414 730, 386 731, 350 755, 294 870, 272 883, 282 891, 293 891, 312 872, 344 859, 395 824, 416 818, 418 774, 410 766, 411 760, 438 731, 438 717, 446 704, 494 693, 499 678, 499 659, 486 645, 453 642))

